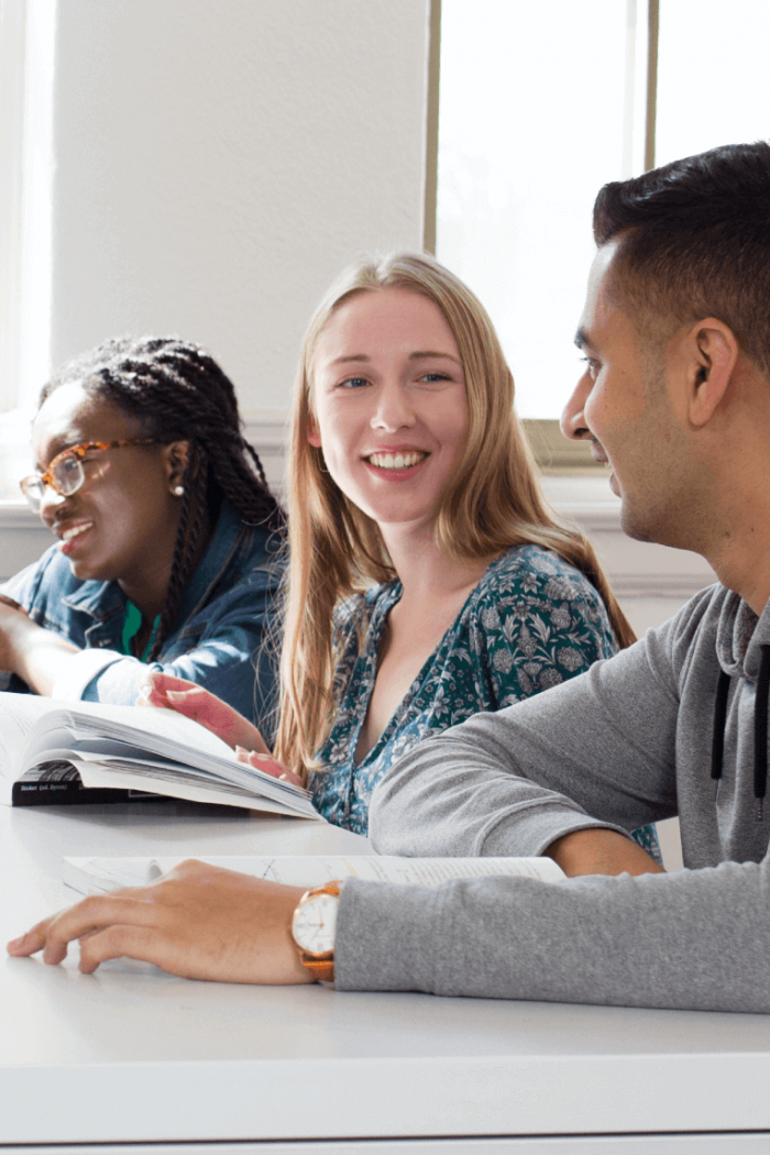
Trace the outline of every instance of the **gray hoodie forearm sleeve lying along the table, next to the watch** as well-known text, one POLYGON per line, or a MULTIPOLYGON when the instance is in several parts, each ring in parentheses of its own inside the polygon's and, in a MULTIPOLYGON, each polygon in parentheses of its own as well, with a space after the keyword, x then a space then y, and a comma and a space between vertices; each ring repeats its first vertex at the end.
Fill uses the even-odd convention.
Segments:
POLYGON ((770 863, 676 874, 350 879, 342 990, 770 1013, 770 863))

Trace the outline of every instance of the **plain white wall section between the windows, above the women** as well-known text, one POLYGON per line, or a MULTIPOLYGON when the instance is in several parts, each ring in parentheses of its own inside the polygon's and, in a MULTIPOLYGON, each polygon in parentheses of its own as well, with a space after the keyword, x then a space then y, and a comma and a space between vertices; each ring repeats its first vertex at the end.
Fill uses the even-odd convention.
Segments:
POLYGON ((429 0, 59 0, 52 359, 208 345, 246 411, 359 252, 421 247, 429 0))

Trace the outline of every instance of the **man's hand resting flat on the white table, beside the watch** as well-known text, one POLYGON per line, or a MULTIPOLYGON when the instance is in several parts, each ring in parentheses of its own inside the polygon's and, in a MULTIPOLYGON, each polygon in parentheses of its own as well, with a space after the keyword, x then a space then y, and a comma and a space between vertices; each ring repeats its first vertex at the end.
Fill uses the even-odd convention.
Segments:
POLYGON ((301 887, 279 886, 193 859, 151 886, 92 895, 8 944, 61 962, 77 939, 80 969, 139 959, 184 978, 269 985, 313 982, 290 933, 301 887))

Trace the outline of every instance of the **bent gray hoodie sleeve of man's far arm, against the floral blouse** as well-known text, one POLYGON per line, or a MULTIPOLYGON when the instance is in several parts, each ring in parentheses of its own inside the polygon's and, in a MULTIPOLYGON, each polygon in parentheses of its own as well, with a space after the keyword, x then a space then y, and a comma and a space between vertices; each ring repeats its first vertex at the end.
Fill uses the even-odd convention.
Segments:
POLYGON ((676 813, 678 684, 667 639, 419 745, 372 799, 380 854, 540 855, 571 830, 676 813))

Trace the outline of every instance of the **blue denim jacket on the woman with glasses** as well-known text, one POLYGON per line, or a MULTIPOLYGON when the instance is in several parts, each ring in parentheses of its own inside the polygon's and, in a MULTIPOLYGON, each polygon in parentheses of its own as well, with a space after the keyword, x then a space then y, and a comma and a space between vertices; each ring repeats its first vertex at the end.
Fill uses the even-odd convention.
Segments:
MULTIPOLYGON (((118 651, 126 596, 117 582, 81 581, 58 545, 12 578, 1 591, 30 618, 81 647, 53 687, 53 698, 133 705, 148 670, 188 678, 234 706, 269 740, 275 670, 263 641, 275 620, 281 579, 276 539, 246 526, 229 505, 184 593, 156 662, 118 651)), ((24 690, 17 678, 2 688, 24 690)))

